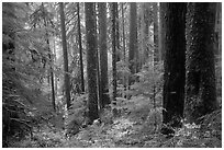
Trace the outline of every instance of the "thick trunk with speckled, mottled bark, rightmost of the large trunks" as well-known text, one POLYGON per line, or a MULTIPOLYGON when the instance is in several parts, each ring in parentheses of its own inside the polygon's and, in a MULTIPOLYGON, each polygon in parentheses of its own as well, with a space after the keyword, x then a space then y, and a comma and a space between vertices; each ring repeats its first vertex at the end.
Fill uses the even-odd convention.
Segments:
POLYGON ((186 106, 189 123, 216 109, 214 27, 216 3, 189 3, 187 12, 186 106))

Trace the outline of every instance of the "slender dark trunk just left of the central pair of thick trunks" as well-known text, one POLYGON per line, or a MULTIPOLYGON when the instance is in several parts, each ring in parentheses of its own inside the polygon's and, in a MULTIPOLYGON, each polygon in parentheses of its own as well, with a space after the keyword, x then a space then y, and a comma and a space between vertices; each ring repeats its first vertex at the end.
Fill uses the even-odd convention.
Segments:
POLYGON ((78 35, 79 35, 79 62, 80 62, 80 73, 81 73, 81 92, 85 93, 85 79, 83 79, 83 61, 82 61, 82 45, 81 45, 81 26, 80 26, 80 15, 79 15, 79 2, 77 2, 77 14, 78 14, 78 35))

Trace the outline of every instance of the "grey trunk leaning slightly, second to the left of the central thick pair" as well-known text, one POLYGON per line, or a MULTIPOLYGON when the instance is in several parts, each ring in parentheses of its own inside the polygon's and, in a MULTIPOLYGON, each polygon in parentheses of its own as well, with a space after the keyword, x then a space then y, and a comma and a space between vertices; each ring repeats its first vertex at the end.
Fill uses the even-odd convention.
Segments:
POLYGON ((61 27, 61 38, 63 38, 63 56, 64 56, 64 84, 66 92, 66 103, 67 108, 70 107, 70 81, 68 74, 68 53, 67 53, 67 43, 66 43, 66 28, 65 28, 65 13, 64 13, 64 4, 59 2, 60 8, 60 27, 61 27))

